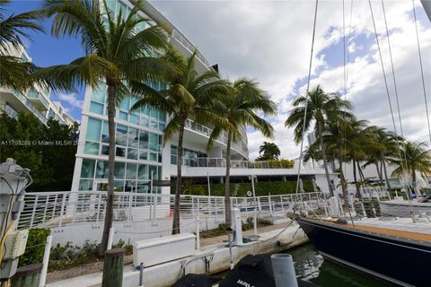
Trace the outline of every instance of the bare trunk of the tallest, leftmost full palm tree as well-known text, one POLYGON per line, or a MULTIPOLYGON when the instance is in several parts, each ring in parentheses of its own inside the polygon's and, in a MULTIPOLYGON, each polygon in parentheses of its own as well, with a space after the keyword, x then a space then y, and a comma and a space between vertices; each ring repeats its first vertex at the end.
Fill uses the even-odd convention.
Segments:
POLYGON ((105 206, 105 221, 101 236, 101 247, 99 255, 103 256, 108 248, 110 228, 112 227, 113 204, 114 204, 114 163, 115 163, 115 90, 113 85, 108 86, 108 130, 110 135, 110 149, 108 153, 108 194, 105 206))

